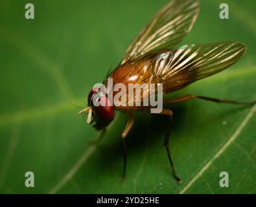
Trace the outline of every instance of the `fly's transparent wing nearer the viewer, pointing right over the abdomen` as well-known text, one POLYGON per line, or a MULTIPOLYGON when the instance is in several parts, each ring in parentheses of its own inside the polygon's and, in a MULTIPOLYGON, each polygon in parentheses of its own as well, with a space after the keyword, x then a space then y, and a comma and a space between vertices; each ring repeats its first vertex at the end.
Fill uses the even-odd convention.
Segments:
POLYGON ((152 82, 163 83, 165 93, 185 87, 233 65, 246 52, 239 42, 185 45, 157 54, 152 63, 152 82))

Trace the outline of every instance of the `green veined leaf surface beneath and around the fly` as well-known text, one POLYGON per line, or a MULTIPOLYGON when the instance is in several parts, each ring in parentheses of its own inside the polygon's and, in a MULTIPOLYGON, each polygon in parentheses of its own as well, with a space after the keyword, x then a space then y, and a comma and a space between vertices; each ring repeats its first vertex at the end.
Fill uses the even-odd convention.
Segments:
MULTIPOLYGON (((126 143, 122 174, 121 132, 116 113, 100 134, 74 105, 115 67, 130 41, 168 1, 32 1, 35 19, 25 19, 27 1, 2 1, 0 12, 1 193, 256 193, 256 107, 192 100, 174 111, 171 175, 163 144, 167 119, 137 113, 126 143), (143 12, 142 12, 143 11, 143 12), (74 104, 74 105, 73 105, 74 104), (34 172, 34 188, 25 173, 34 172), (221 188, 220 172, 229 173, 221 188)), ((255 100, 255 3, 226 1, 229 19, 218 17, 222 1, 202 1, 183 44, 240 41, 246 55, 231 69, 168 96, 200 94, 255 100)))

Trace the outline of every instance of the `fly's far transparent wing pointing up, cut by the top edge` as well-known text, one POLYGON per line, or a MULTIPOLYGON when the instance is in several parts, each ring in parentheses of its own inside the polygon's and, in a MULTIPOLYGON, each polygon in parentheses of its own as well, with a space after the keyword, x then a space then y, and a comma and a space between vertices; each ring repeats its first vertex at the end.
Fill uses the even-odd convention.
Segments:
POLYGON ((172 49, 191 30, 199 12, 198 0, 172 0, 139 33, 120 65, 153 50, 172 49))

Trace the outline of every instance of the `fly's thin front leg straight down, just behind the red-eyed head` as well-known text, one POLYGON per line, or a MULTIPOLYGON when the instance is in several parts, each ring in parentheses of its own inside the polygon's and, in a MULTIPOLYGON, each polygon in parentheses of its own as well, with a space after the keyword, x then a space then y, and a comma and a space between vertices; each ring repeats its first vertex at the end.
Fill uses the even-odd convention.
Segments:
POLYGON ((122 171, 122 179, 121 182, 124 182, 125 176, 126 176, 126 163, 127 163, 127 151, 126 151, 126 145, 125 145, 125 138, 130 132, 130 129, 132 129, 132 125, 134 124, 134 116, 132 116, 131 113, 128 114, 128 120, 126 123, 126 126, 124 128, 124 131, 122 131, 121 139, 122 139, 122 146, 124 147, 124 168, 122 171))

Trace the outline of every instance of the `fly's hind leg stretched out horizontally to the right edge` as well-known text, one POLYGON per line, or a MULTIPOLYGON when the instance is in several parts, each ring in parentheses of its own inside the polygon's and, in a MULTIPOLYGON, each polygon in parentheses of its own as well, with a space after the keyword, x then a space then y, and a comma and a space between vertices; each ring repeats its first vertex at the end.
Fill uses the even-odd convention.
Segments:
POLYGON ((222 100, 222 99, 218 99, 218 98, 209 98, 206 96, 198 96, 198 95, 187 95, 187 96, 181 96, 180 98, 166 98, 165 100, 163 100, 163 103, 180 103, 180 102, 187 102, 189 100, 192 99, 201 99, 201 100, 207 100, 210 102, 216 102, 216 103, 233 103, 233 104, 239 104, 239 105, 253 105, 256 103, 256 101, 254 102, 237 102, 237 101, 233 101, 233 100, 222 100))

